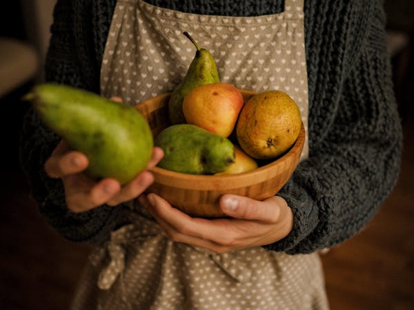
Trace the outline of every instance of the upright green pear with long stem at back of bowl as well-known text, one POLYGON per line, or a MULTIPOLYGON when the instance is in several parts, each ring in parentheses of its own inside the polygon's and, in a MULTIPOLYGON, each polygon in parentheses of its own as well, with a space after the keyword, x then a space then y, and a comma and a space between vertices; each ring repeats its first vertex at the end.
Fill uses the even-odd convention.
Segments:
POLYGON ((193 42, 197 51, 188 67, 186 76, 171 93, 170 101, 168 102, 168 117, 172 125, 186 123, 182 105, 184 96, 190 90, 199 85, 219 83, 220 81, 215 60, 210 52, 205 48, 200 48, 188 32, 184 32, 184 35, 193 42))

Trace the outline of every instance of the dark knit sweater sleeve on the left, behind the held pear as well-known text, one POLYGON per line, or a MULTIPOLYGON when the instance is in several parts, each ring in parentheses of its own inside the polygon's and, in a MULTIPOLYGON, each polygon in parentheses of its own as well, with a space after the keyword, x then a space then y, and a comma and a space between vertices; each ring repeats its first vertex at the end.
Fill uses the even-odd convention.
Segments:
MULTIPOLYGON (((46 59, 46 79, 90 89, 77 56, 79 46, 73 32, 72 10, 72 1, 57 2, 46 59)), ((46 221, 63 237, 77 242, 100 242, 119 223, 121 207, 103 205, 80 214, 68 210, 61 180, 48 178, 43 170, 59 141, 59 136, 44 127, 37 113, 30 109, 21 132, 21 166, 28 177, 32 196, 46 221)))

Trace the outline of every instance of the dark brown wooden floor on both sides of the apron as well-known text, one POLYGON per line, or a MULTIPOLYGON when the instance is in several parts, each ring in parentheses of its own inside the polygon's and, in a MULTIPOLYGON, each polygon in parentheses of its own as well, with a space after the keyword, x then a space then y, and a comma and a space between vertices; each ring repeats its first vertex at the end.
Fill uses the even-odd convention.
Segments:
MULTIPOLYGON (((384 207, 322 257, 333 310, 414 309, 413 120, 405 115, 402 170, 384 207)), ((0 187, 0 309, 66 310, 90 248, 43 222, 21 173, 3 172, 0 187)))

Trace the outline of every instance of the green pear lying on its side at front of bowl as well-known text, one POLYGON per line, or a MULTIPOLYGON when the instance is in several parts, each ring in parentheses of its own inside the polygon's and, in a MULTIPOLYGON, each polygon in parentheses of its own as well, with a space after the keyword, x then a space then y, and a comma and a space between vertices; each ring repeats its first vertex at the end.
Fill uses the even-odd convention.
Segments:
POLYGON ((235 147, 230 140, 196 125, 166 127, 154 144, 164 151, 158 167, 184 174, 224 172, 235 161, 235 147))

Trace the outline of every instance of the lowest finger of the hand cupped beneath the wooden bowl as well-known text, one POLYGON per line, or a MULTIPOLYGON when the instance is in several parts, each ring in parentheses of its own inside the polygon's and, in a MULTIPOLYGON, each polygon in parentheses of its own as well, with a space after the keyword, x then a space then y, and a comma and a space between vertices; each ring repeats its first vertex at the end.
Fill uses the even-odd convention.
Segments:
POLYGON ((148 211, 150 211, 150 214, 155 218, 155 220, 157 221, 161 229, 163 229, 166 232, 167 236, 171 240, 175 242, 186 243, 188 245, 193 245, 195 247, 202 247, 204 249, 214 251, 215 253, 224 253, 226 251, 231 251, 230 247, 224 247, 210 240, 188 236, 186 234, 182 234, 181 232, 177 231, 175 227, 172 227, 172 225, 170 225, 166 220, 159 217, 155 212, 152 211, 150 204, 148 203, 148 199, 146 198, 145 195, 141 195, 139 197, 139 202, 141 203, 141 205, 146 207, 148 211))

